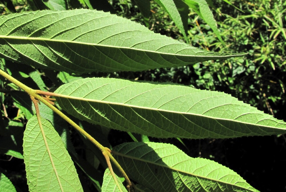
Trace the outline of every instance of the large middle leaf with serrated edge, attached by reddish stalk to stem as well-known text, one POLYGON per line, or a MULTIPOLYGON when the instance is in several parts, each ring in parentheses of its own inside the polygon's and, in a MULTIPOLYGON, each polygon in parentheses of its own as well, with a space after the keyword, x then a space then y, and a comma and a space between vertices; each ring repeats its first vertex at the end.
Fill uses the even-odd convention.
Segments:
POLYGON ((235 138, 286 133, 286 123, 228 94, 176 84, 85 78, 55 93, 69 114, 158 138, 235 138))

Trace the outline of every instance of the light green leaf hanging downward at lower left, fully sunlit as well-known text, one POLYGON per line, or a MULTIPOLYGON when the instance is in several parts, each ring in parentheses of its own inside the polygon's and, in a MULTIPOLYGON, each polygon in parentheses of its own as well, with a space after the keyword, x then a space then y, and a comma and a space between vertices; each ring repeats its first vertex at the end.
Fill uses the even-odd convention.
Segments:
POLYGON ((58 133, 46 119, 41 118, 41 124, 47 143, 36 116, 28 121, 24 132, 24 161, 29 191, 83 191, 74 163, 58 133), (46 146, 49 147, 51 156, 46 146))

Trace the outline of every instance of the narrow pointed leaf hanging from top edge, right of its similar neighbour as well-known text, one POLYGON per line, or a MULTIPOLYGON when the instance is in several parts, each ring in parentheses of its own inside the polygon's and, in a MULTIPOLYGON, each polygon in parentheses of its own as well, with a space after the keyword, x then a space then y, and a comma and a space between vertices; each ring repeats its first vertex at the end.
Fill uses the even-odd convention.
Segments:
POLYGON ((224 41, 221 39, 221 34, 217 29, 216 21, 212 15, 212 11, 208 7, 205 0, 183 0, 190 8, 192 8, 205 22, 210 26, 212 31, 217 35, 219 41, 223 44, 224 41))

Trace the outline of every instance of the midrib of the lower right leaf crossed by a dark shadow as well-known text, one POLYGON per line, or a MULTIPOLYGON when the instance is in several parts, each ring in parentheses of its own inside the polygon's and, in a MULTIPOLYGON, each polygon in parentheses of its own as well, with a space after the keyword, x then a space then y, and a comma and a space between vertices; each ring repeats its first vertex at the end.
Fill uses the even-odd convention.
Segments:
MULTIPOLYGON (((153 151, 155 151, 155 150, 153 150, 153 151)), ((155 151, 156 152, 156 151, 155 151)), ((227 184, 227 185, 235 185, 235 184, 232 184, 232 183, 227 183, 227 182, 225 182, 225 181, 220 181, 220 180, 217 180, 217 179, 212 179, 212 178, 208 178, 208 177, 204 177, 204 176, 201 176, 201 175, 196 175, 196 174, 194 174, 194 173, 189 173, 189 172, 186 172, 186 171, 182 171, 182 170, 180 170, 180 169, 175 169, 174 167, 170 167, 170 166, 168 166, 168 165, 162 165, 162 164, 160 164, 160 163, 155 163, 155 162, 153 162, 153 161, 149 161, 149 160, 146 160, 146 159, 141 159, 141 158, 138 158, 138 157, 133 157, 133 156, 130 156, 130 155, 126 155, 126 154, 123 154, 123 153, 120 153, 120 152, 117 152, 117 151, 112 151, 112 154, 114 154, 114 155, 118 155, 118 156, 122 156, 122 157, 126 157, 126 158, 129 158, 129 159, 134 159, 134 160, 137 160, 137 161, 142 161, 142 162, 145 162, 145 163, 150 163, 150 164, 153 164, 153 165, 156 165, 156 166, 160 166, 160 167, 164 167, 164 168, 167 168, 167 169, 172 169, 172 170, 174 170, 174 171, 177 171, 177 172, 180 172, 180 173, 186 173, 186 174, 188 174, 188 175, 192 175, 192 176, 194 176, 194 177, 199 177, 199 178, 201 178, 201 179, 208 179, 208 180, 212 180, 212 181, 216 181, 216 182, 220 182, 220 183, 225 183, 225 184, 227 184)), ((163 157, 161 157, 161 159, 162 159, 163 157)), ((215 162, 213 162, 213 163, 215 163, 215 162)), ((221 168, 226 168, 226 167, 221 167, 221 168)), ((231 174, 231 175, 233 175, 233 174, 231 174)), ((225 175, 224 175, 225 176, 225 175)), ((234 176, 236 176, 236 175, 234 175, 234 176)), ((245 187, 241 187, 241 186, 239 186, 239 185, 235 185, 235 186, 237 186, 237 187, 240 187, 241 189, 247 189, 247 190, 251 190, 251 189, 248 189, 248 188, 245 188, 245 187)), ((251 191, 253 191, 253 190, 251 190, 251 191)))

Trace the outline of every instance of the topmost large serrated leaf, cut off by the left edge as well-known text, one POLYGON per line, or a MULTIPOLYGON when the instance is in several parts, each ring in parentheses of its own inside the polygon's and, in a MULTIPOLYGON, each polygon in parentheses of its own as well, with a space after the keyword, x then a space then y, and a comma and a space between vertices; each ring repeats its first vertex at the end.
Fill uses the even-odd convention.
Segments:
POLYGON ((87 73, 143 71, 243 54, 197 49, 102 11, 35 11, 0 17, 0 57, 87 73))

